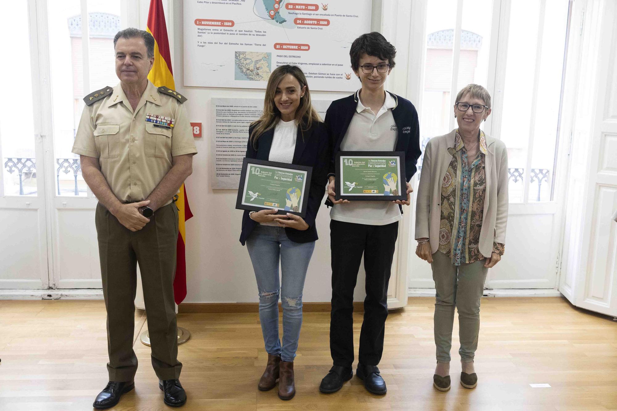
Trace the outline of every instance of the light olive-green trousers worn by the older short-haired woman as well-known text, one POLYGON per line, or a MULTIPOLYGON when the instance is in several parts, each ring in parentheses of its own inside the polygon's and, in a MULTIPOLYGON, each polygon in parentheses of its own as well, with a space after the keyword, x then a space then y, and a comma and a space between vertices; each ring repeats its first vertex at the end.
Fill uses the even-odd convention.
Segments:
POLYGON ((480 330, 480 297, 488 268, 485 260, 471 264, 454 265, 452 259, 437 251, 433 254, 433 280, 435 281, 434 332, 437 362, 450 362, 454 307, 458 310, 458 354, 462 362, 472 362, 478 348, 480 330))

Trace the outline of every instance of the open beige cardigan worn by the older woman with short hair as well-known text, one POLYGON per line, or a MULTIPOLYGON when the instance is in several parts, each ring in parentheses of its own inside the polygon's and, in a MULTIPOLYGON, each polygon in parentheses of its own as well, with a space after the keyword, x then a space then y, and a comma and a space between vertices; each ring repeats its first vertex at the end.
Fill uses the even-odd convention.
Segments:
MULTIPOLYGON (((439 248, 441 223, 441 183, 452 156, 456 130, 434 137, 426 144, 416 202, 415 238, 428 238, 431 252, 439 248)), ((491 255, 493 242, 505 244, 505 226, 508 220, 508 152, 501 140, 485 135, 489 154, 484 159, 486 196, 480 231, 479 251, 491 255)))

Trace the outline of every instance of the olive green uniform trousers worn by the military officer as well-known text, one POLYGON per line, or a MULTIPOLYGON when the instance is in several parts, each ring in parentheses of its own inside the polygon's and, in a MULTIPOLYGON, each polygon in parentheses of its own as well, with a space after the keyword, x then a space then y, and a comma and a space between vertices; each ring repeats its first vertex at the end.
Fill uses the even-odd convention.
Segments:
POLYGON ((139 231, 128 230, 100 203, 96 206, 103 296, 107 309, 107 371, 110 381, 133 381, 137 264, 141 272, 152 367, 160 380, 180 377, 173 277, 176 270, 178 209, 156 210, 139 231))

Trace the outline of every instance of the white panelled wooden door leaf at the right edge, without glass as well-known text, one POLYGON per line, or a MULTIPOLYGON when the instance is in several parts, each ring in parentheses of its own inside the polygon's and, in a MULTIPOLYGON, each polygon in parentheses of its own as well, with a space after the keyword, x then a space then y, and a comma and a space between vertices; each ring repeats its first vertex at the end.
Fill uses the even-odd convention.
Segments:
POLYGON ((560 291, 578 307, 617 316, 617 5, 584 2, 582 12, 560 291))

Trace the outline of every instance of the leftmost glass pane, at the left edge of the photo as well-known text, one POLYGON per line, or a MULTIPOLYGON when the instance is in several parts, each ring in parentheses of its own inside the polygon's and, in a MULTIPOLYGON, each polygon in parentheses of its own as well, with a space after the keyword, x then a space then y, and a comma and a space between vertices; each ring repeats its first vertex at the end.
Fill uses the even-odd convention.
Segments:
POLYGON ((32 108, 30 27, 28 2, 14 1, 9 19, 0 25, 0 37, 10 39, 10 60, 2 64, 2 94, 15 99, 0 99, 0 144, 2 180, 5 196, 36 196, 36 158, 32 108), (19 66, 19 67, 18 67, 19 66), (16 102, 19 101, 19 104, 16 102))

